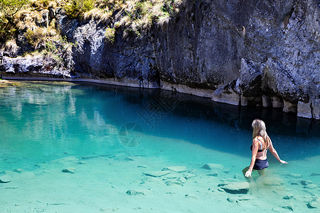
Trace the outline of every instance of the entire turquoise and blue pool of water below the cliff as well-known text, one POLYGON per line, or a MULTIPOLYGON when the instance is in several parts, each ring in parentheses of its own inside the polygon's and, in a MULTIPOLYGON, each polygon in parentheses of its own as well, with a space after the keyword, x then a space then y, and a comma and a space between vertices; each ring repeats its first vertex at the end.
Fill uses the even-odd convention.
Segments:
POLYGON ((0 97, 0 212, 319 211, 319 121, 97 84, 11 82, 0 97), (289 164, 268 155, 230 194, 247 182, 255 118, 289 164), (186 170, 149 174, 170 166, 186 170))

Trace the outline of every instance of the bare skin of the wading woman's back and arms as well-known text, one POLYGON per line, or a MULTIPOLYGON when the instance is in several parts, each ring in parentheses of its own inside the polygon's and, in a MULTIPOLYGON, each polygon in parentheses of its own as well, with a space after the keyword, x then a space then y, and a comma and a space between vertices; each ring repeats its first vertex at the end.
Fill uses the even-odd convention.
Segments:
MULTIPOLYGON (((253 166, 255 165, 255 159, 259 159, 259 160, 267 159, 267 149, 266 148, 260 153, 257 152, 259 149, 259 146, 260 146, 258 139, 262 143, 265 143, 265 141, 263 141, 263 138, 261 136, 257 136, 255 139, 253 139, 253 141, 252 141, 252 157, 251 157, 250 166, 249 166, 249 168, 245 168, 244 170, 242 170, 242 172, 245 174, 245 177, 251 177, 252 169, 253 169, 253 166), (245 170, 247 170, 247 172, 245 172, 245 170)), ((274 147, 272 146, 271 141, 270 141, 269 150, 272 153, 272 155, 274 155, 274 158, 276 158, 280 163, 287 164, 286 161, 281 160, 279 158, 279 155, 278 155, 277 151, 274 149, 274 147)), ((258 172, 260 173, 260 175, 262 175, 263 170, 262 171, 258 170, 258 172)))

